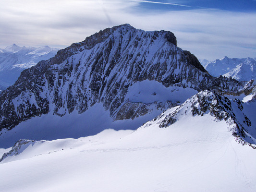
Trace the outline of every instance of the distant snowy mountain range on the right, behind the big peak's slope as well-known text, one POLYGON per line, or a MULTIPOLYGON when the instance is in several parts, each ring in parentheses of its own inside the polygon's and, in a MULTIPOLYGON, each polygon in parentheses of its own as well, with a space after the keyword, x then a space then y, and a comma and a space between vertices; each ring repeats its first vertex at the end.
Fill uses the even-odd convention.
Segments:
POLYGON ((207 72, 215 77, 219 75, 232 77, 238 81, 256 80, 256 58, 228 58, 208 61, 200 60, 207 72))

